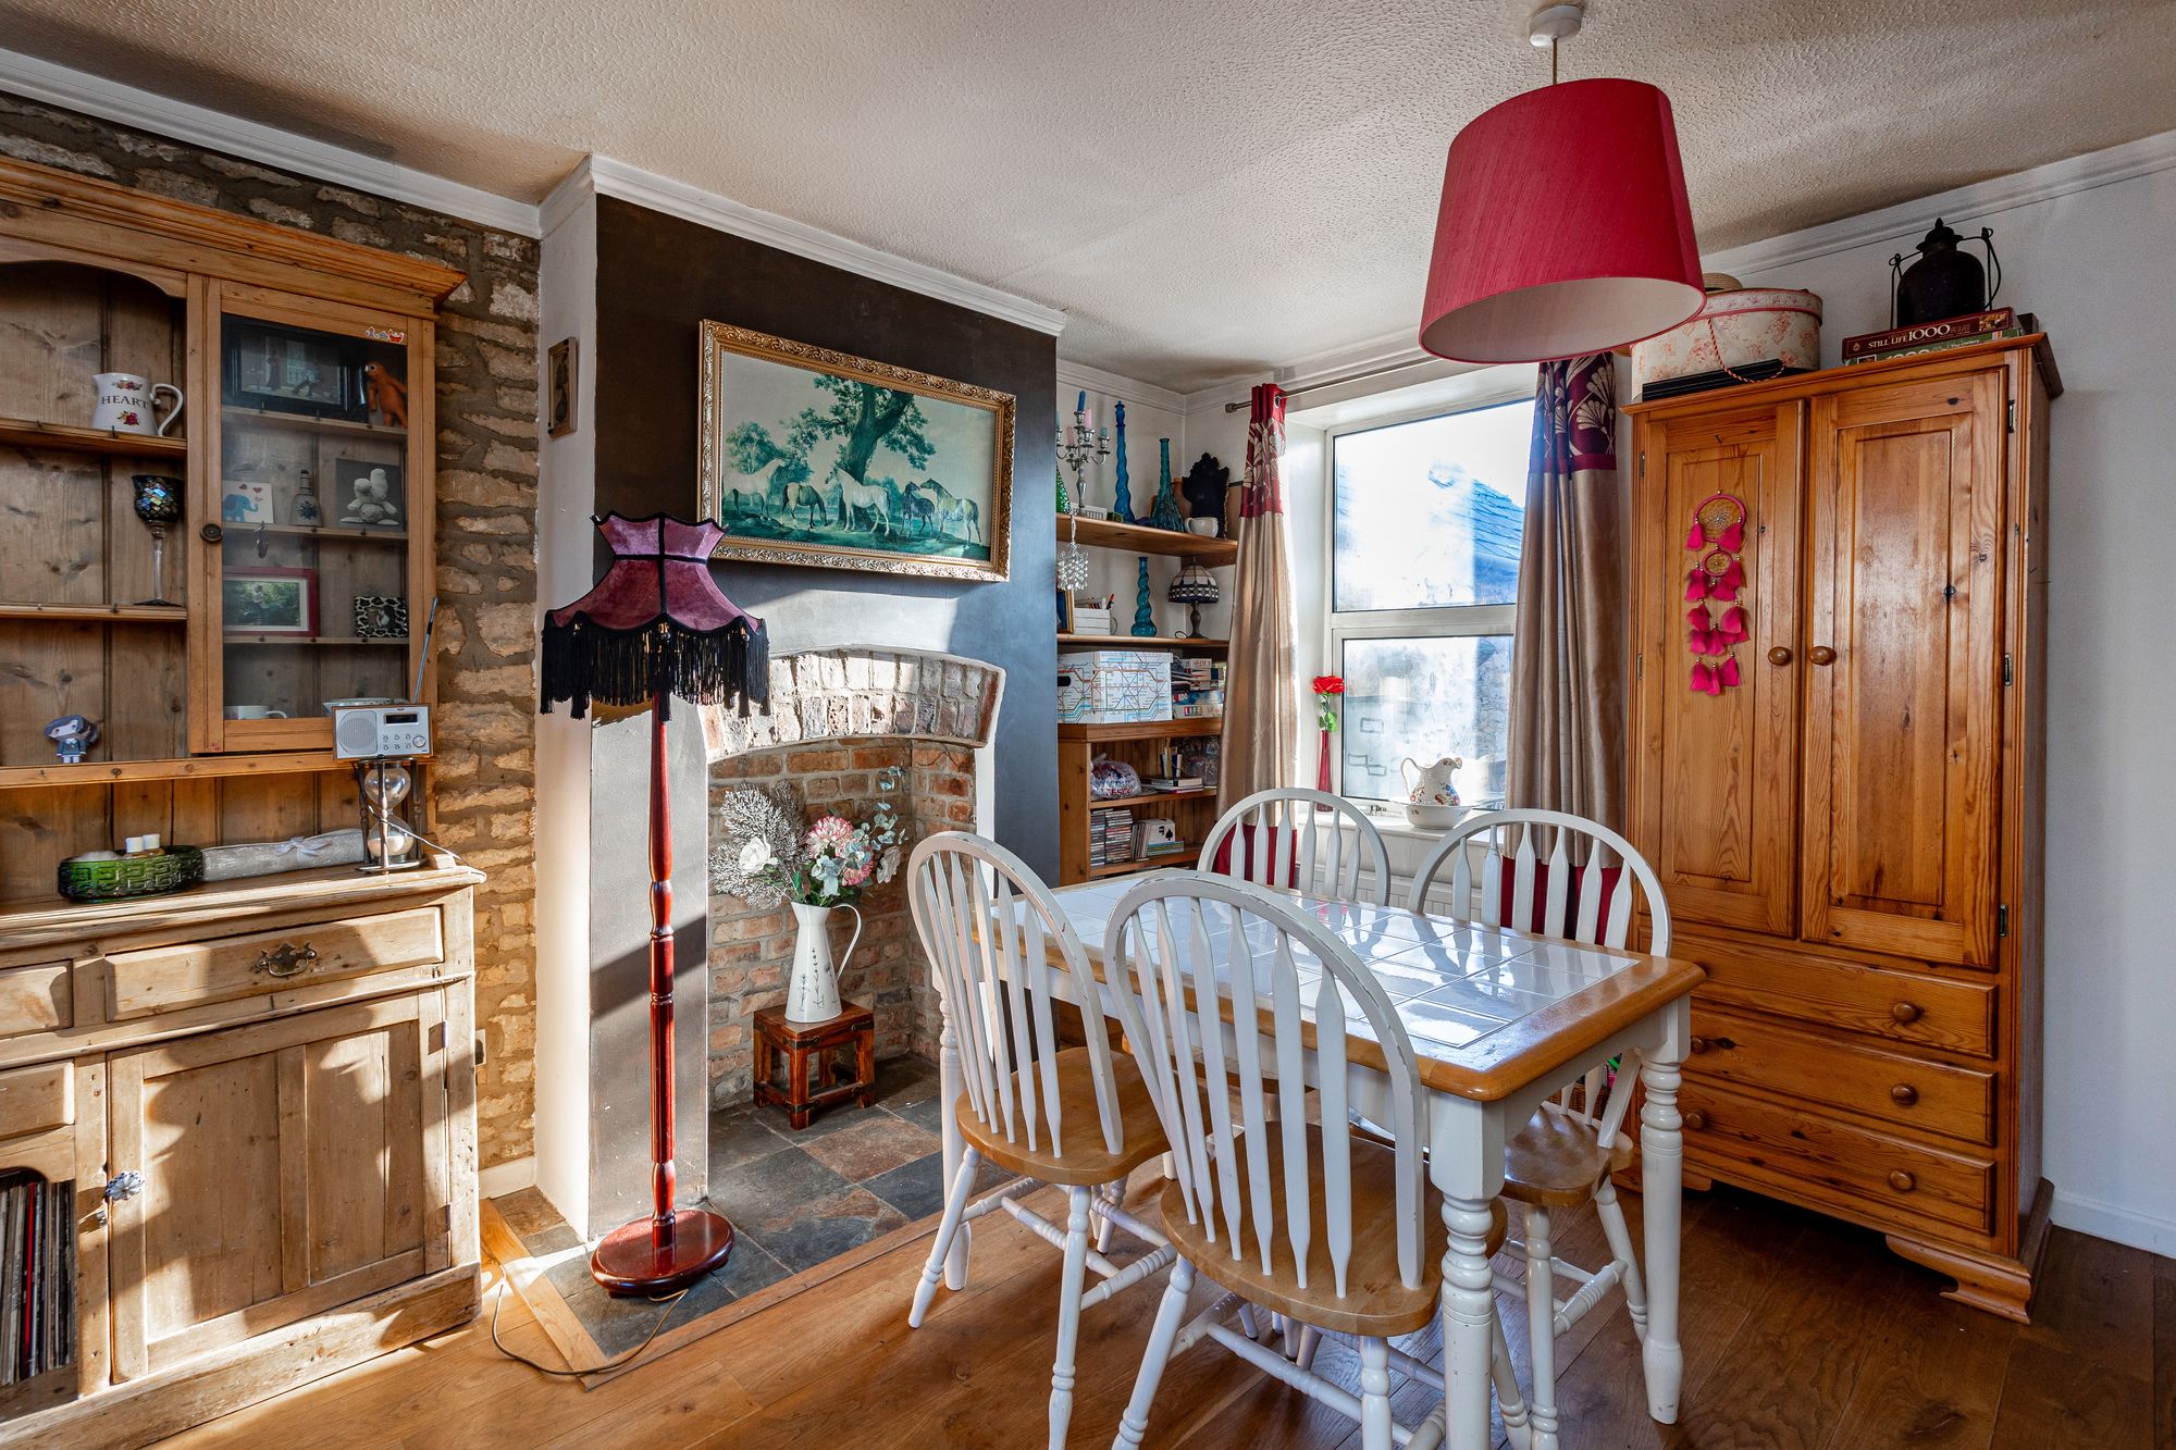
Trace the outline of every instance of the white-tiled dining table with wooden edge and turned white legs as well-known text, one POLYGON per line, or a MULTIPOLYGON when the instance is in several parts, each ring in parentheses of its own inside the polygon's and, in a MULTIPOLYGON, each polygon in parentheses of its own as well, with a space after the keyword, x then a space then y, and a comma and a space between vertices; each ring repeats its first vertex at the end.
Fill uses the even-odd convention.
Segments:
MULTIPOLYGON (((1158 873, 1090 880, 1058 888, 1055 901, 1086 949, 1099 1002, 1084 1004, 1051 945, 1051 993, 1118 1019, 1105 975, 1105 936, 1129 890, 1158 873)), ((1421 1078, 1421 1136, 1427 1176, 1443 1195, 1449 1245, 1443 1256, 1445 1443, 1488 1446, 1493 1287, 1486 1237, 1491 1202, 1504 1189, 1504 1145, 1543 1099, 1621 1054, 1636 1054, 1641 1097, 1641 1219, 1647 1280, 1643 1369, 1647 1413, 1673 1424, 1684 1378, 1678 1343, 1678 1226, 1684 1171, 1678 1082, 1691 1045, 1691 993, 1704 973, 1641 951, 1536 936, 1504 925, 1412 912, 1401 906, 1332 901, 1282 893, 1351 947, 1382 982, 1412 1039, 1421 1078)), ((1299 962, 1301 978, 1310 975, 1299 962)), ((1388 1078, 1353 1043, 1351 1110, 1388 1121, 1388 1078)), ((960 1054, 951 1028, 940 1041, 944 1102, 960 1102, 960 1054)), ((1314 1086, 1314 1058, 1303 1069, 1314 1086)), ((944 1182, 964 1145, 944 1115, 944 1182)), ((962 1232, 947 1282, 966 1287, 962 1232)))

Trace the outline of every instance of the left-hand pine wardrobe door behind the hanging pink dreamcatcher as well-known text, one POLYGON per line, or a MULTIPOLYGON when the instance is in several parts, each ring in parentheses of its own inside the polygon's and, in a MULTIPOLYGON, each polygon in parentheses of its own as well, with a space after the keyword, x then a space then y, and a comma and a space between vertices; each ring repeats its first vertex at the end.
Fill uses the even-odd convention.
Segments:
POLYGON ((1671 917, 1752 932, 1795 927, 1797 551, 1802 405, 1643 425, 1639 568, 1641 749, 1632 834, 1671 917), (1693 512, 1713 494, 1745 503, 1739 601, 1752 638, 1732 653, 1739 684, 1693 690, 1689 612, 1723 620, 1730 601, 1684 599, 1699 553, 1693 512), (1782 651, 1780 655, 1773 651, 1782 651))

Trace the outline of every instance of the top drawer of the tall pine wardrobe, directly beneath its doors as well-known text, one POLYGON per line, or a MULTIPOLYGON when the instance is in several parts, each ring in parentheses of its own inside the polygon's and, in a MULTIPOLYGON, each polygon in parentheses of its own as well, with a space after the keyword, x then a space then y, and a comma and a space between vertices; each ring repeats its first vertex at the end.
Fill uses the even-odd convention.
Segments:
POLYGON ((1961 982, 1789 947, 1739 949, 1704 941, 1680 951, 1708 969, 1699 995, 1736 1008, 1797 1017, 1891 1043, 1995 1056, 1993 982, 1961 982))

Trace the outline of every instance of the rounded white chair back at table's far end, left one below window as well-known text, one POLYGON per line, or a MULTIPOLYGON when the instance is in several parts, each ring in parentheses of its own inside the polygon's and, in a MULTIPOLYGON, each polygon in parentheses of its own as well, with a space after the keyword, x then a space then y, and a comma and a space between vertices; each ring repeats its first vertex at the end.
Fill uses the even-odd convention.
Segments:
POLYGON ((1332 901, 1390 901, 1390 853, 1382 834, 1364 810, 1325 790, 1256 790, 1216 819, 1197 867, 1332 901))

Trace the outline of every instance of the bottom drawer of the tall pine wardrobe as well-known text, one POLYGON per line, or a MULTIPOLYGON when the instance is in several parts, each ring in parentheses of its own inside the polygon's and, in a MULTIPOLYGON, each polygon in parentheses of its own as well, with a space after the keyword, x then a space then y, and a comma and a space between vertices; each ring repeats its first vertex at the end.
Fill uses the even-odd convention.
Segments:
POLYGON ((1678 1108, 1684 1160, 1726 1182, 1891 1226, 1993 1230, 1995 1165, 1987 1158, 1693 1080, 1678 1093, 1678 1108))

